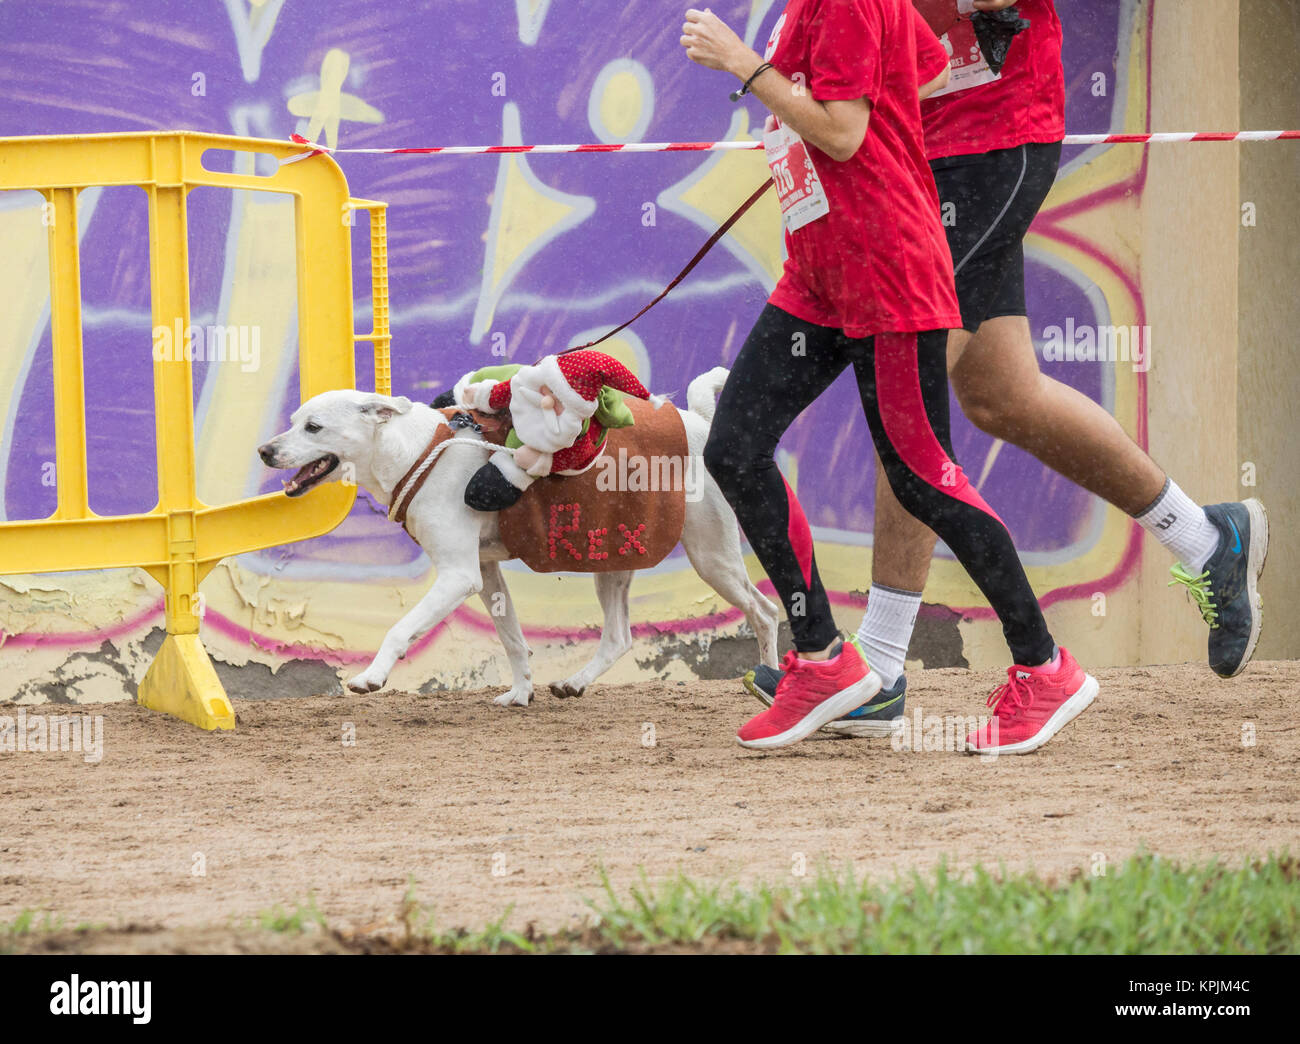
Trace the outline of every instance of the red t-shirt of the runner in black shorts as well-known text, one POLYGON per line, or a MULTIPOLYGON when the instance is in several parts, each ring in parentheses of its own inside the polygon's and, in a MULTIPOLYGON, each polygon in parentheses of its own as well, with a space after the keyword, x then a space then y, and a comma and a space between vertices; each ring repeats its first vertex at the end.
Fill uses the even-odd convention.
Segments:
POLYGON ((1052 0, 1018 0, 1017 9, 1030 27, 1011 40, 998 77, 979 53, 968 20, 944 34, 952 79, 920 103, 928 159, 1065 138, 1061 20, 1052 0))

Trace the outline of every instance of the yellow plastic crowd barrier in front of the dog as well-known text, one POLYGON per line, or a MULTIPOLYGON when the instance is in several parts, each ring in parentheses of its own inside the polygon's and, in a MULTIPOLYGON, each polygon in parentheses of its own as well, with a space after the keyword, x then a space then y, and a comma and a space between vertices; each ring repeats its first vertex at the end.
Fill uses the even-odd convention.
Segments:
MULTIPOLYGON (((49 317, 57 507, 48 519, 0 524, 0 573, 138 566, 166 592, 166 638, 140 683, 139 702, 205 729, 234 728, 230 701, 199 640, 199 584, 222 558, 328 533, 347 516, 356 488, 329 482, 298 499, 274 493, 209 506, 195 491, 194 391, 186 352, 153 359, 157 504, 142 515, 90 510, 82 367, 77 198, 92 186, 143 189, 150 209, 153 328, 190 329, 186 196, 195 186, 281 192, 294 199, 298 252, 299 394, 352 387, 356 341, 374 345, 377 390, 387 394, 387 243, 382 203, 348 198, 329 156, 300 146, 187 131, 0 138, 0 190, 47 200, 49 317), (270 155, 269 177, 208 170, 208 150, 270 155), (352 326, 350 228, 370 212, 374 325, 352 326)), ((142 347, 142 350, 144 350, 142 347)))

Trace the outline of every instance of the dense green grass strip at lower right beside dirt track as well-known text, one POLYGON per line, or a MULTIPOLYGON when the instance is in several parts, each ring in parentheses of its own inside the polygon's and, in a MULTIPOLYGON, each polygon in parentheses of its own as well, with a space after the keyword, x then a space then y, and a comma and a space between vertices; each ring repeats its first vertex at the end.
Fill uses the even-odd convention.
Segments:
POLYGON ((684 876, 592 902, 614 949, 744 941, 780 953, 1296 953, 1300 863, 1179 867, 1135 855, 1105 876, 966 875, 878 884, 822 870, 794 885, 684 876))

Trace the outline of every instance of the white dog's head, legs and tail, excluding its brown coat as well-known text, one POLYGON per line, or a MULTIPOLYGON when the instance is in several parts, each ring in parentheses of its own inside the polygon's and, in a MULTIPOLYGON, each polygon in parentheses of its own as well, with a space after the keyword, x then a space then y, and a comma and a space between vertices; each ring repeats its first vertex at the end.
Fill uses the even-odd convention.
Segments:
MULTIPOLYGON (((727 380, 718 367, 697 377, 686 390, 688 410, 679 411, 686 443, 697 458, 692 472, 703 477, 699 497, 686 498, 681 543, 696 572, 718 594, 745 614, 758 638, 759 658, 776 664, 776 606, 750 582, 740 549, 736 516, 722 491, 701 467, 714 399, 727 380)), ((670 408, 670 407, 664 407, 670 408)), ((257 449, 272 468, 298 468, 285 482, 285 493, 300 497, 326 480, 350 477, 380 503, 390 503, 393 489, 429 445, 446 417, 432 407, 406 398, 363 391, 326 391, 303 403, 292 426, 257 449)), ((407 528, 437 569, 437 580, 416 606, 385 636, 374 660, 347 683, 352 692, 384 688, 394 664, 411 642, 478 594, 488 607, 497 636, 510 658, 510 692, 497 697, 500 706, 528 706, 533 697, 530 655, 510 601, 499 563, 510 558, 497 530, 497 515, 474 511, 464 502, 465 484, 491 452, 473 428, 456 432, 429 480, 407 511, 407 528), (459 445, 468 443, 468 445, 459 445), (480 449, 481 447, 481 449, 480 449)), ((581 671, 552 684, 555 696, 580 696, 632 647, 628 588, 632 571, 595 573, 595 594, 604 611, 601 644, 581 671)))

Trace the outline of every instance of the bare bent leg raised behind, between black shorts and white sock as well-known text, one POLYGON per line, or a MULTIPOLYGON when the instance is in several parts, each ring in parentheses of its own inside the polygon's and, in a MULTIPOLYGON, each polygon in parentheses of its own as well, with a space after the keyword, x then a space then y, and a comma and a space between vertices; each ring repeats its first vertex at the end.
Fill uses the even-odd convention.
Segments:
POLYGON ((991 319, 975 337, 949 334, 948 372, 962 412, 982 432, 1027 450, 1130 515, 1160 497, 1165 472, 1119 421, 1043 376, 1023 316, 991 319))

